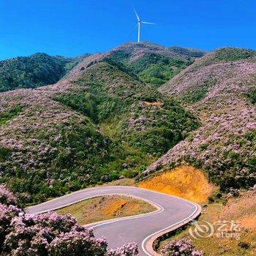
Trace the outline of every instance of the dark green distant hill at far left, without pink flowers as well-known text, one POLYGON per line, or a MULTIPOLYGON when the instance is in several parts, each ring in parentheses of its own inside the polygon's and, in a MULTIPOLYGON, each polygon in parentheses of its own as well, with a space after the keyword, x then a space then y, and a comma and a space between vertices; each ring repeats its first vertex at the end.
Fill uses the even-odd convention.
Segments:
POLYGON ((0 92, 56 83, 78 61, 78 58, 48 56, 45 53, 0 61, 0 92))

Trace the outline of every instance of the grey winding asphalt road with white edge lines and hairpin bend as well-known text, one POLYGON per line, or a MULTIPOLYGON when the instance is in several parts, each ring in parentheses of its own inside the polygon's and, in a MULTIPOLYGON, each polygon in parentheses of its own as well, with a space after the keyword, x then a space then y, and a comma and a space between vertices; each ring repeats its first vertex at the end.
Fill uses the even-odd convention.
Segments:
POLYGON ((105 236, 107 238, 109 248, 135 242, 139 245, 140 256, 158 255, 152 248, 153 241, 162 234, 175 230, 195 219, 201 211, 200 206, 196 203, 179 197, 138 187, 118 186, 83 189, 37 206, 31 206, 26 209, 26 212, 28 214, 39 214, 53 211, 101 195, 129 195, 146 200, 157 208, 156 211, 149 214, 112 219, 88 225, 93 227, 95 236, 105 236))

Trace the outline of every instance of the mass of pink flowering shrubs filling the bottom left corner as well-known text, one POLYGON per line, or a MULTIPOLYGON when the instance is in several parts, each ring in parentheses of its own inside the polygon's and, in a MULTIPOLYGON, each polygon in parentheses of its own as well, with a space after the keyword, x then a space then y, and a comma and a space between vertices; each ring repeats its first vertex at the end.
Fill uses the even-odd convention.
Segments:
POLYGON ((10 204, 16 203, 15 195, 4 186, 1 186, 1 192, 6 204, 0 203, 0 255, 138 255, 135 244, 125 244, 108 252, 105 238, 94 237, 91 229, 79 226, 70 215, 61 216, 55 212, 25 214, 10 204))

